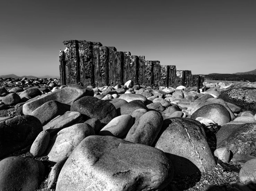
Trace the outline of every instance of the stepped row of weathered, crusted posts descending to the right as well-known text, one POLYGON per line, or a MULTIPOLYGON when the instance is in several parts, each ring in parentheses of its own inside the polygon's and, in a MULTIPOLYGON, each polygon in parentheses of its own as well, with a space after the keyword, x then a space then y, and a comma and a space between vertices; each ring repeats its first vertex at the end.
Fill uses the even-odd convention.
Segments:
POLYGON ((59 52, 62 85, 82 83, 86 87, 103 87, 133 80, 144 86, 203 86, 204 76, 192 75, 190 70, 161 66, 160 61, 116 51, 115 47, 102 46, 100 42, 69 40, 63 43, 65 50, 59 52))

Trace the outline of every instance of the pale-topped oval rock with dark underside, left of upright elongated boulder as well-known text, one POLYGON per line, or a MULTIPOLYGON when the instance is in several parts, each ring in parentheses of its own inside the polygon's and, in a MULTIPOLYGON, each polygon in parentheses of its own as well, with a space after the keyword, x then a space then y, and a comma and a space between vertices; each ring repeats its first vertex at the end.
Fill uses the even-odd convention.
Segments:
POLYGON ((125 114, 112 119, 104 128, 99 132, 99 135, 111 135, 121 138, 127 134, 133 125, 133 117, 125 114))

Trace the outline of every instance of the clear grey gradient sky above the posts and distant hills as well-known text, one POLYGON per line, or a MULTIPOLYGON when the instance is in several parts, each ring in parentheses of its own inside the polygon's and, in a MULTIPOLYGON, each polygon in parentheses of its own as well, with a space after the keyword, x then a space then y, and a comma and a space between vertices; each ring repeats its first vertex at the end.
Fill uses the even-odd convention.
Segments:
POLYGON ((255 0, 2 1, 0 75, 59 76, 59 50, 71 39, 192 74, 251 71, 255 10, 255 0))

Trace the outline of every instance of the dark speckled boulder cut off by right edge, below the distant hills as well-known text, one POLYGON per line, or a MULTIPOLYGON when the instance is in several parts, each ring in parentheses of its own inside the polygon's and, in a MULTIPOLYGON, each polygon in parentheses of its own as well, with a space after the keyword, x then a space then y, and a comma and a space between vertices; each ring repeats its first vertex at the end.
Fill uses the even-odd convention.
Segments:
POLYGON ((236 104, 244 110, 256 112, 256 88, 236 88, 222 91, 219 98, 236 104))

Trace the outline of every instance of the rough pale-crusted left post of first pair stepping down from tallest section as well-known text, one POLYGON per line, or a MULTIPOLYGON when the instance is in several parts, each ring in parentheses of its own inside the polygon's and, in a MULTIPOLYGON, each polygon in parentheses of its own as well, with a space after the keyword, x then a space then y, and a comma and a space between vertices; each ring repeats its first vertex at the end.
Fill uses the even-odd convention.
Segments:
POLYGON ((99 47, 99 87, 107 86, 108 48, 99 47))

